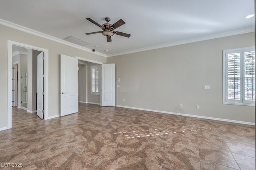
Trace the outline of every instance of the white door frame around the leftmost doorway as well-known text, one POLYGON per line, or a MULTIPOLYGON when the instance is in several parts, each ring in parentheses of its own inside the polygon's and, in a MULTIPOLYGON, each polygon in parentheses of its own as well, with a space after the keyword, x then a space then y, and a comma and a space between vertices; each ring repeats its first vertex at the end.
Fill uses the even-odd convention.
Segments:
POLYGON ((44 119, 48 119, 48 75, 49 50, 8 40, 7 42, 7 129, 12 128, 12 45, 44 52, 44 119))

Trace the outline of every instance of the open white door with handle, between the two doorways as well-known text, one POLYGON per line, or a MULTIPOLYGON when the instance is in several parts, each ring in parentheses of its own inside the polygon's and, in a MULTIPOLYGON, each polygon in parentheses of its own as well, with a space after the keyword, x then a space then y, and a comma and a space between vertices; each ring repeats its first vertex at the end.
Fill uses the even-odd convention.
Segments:
POLYGON ((60 116, 78 112, 78 59, 60 55, 60 116))

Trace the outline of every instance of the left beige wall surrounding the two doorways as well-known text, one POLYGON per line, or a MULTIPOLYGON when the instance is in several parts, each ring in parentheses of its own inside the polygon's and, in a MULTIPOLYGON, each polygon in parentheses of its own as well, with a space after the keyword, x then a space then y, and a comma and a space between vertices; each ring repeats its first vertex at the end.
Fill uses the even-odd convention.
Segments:
POLYGON ((49 49, 49 113, 59 115, 60 109, 60 54, 78 56, 106 63, 106 57, 70 47, 45 38, 0 25, 0 128, 7 127, 7 40, 49 49))

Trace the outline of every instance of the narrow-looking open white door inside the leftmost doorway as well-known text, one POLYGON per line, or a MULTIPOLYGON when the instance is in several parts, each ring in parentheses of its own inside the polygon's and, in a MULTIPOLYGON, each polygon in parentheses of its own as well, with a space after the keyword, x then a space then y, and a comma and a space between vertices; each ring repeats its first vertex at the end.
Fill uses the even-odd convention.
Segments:
POLYGON ((44 119, 44 52, 37 56, 37 115, 44 119))

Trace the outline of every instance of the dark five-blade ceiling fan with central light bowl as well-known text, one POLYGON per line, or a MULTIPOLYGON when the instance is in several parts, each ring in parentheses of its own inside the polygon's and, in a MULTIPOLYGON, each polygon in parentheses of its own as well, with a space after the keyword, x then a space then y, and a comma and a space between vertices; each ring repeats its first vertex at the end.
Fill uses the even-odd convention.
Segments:
POLYGON ((96 26, 100 27, 102 29, 102 31, 97 31, 97 32, 90 32, 90 33, 86 33, 86 35, 90 35, 90 34, 96 34, 96 33, 102 33, 102 35, 107 37, 107 42, 111 42, 111 36, 113 36, 114 34, 118 35, 118 36, 124 36, 124 37, 130 37, 130 34, 126 34, 123 32, 118 32, 115 31, 116 28, 122 26, 125 24, 125 22, 120 19, 118 20, 115 24, 109 24, 108 22, 110 22, 110 18, 106 17, 105 20, 107 23, 105 24, 98 24, 97 22, 95 22, 94 20, 92 20, 91 18, 86 18, 86 20, 92 22, 93 24, 95 24, 96 26))

